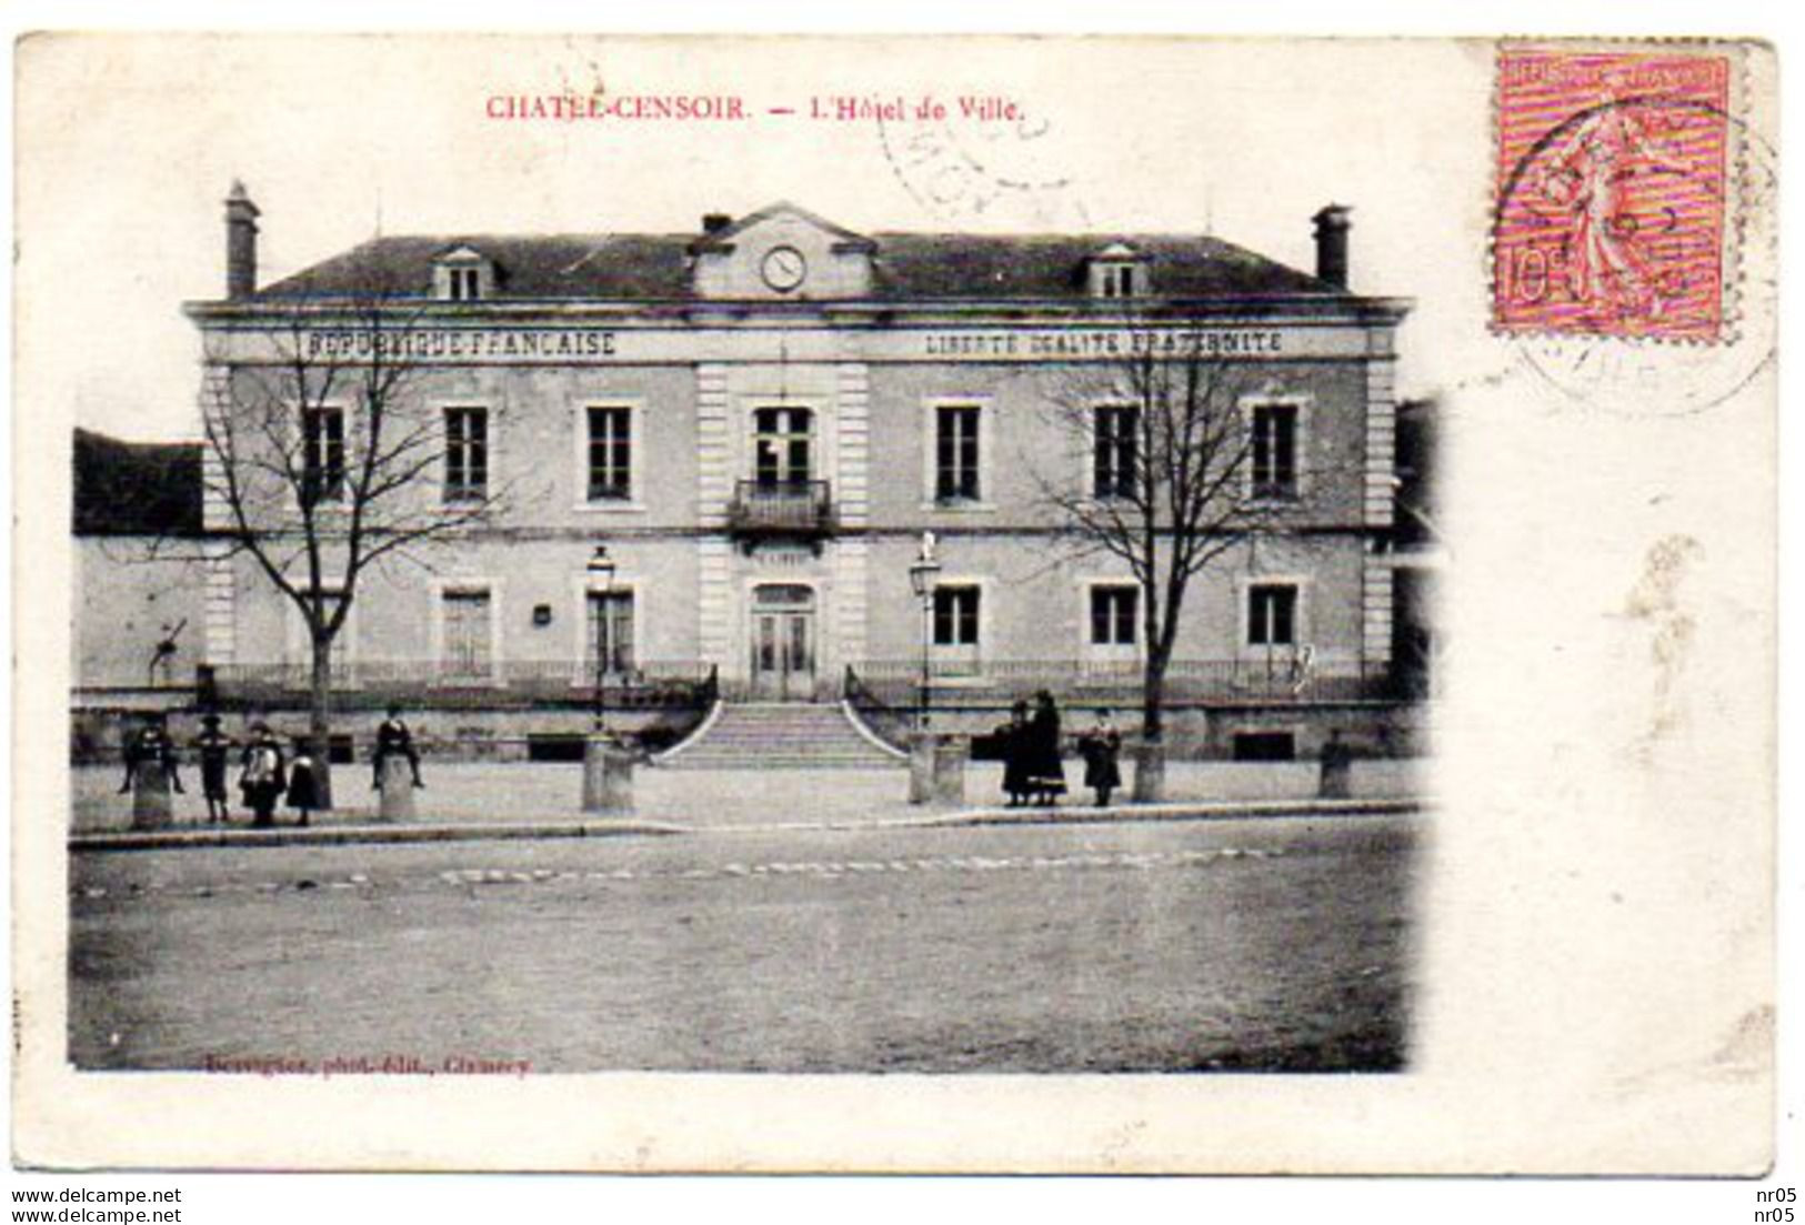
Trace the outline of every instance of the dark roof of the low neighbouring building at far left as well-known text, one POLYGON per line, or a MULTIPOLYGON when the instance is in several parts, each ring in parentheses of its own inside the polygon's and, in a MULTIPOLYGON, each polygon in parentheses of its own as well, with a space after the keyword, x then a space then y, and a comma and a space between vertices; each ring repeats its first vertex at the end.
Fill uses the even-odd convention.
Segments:
POLYGON ((199 536, 200 444, 76 429, 76 536, 199 536))

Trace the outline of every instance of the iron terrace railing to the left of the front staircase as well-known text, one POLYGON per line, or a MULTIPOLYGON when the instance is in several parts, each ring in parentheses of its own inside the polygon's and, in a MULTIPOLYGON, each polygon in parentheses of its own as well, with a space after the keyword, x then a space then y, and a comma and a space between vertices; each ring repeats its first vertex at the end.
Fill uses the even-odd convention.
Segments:
MULTIPOLYGON (((718 693, 713 664, 653 660, 601 678, 608 709, 706 707, 718 693)), ((312 666, 220 664, 213 696, 220 705, 292 705, 307 700, 312 666)), ((451 660, 347 660, 332 668, 334 705, 527 709, 594 707, 596 666, 588 660, 505 660, 487 666, 451 660)))

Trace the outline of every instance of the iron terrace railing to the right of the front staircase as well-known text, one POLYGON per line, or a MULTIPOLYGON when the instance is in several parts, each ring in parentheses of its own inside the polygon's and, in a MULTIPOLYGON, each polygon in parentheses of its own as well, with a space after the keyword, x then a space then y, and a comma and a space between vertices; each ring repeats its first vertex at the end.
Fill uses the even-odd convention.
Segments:
MULTIPOLYGON (((848 695, 874 705, 910 709, 921 693, 921 659, 863 660, 847 669, 848 695)), ((935 705, 991 705, 1040 689, 1065 704, 1139 705, 1139 660, 930 660, 935 705)), ((1384 664, 1323 664, 1292 657, 1175 659, 1166 666, 1164 700, 1179 705, 1375 702, 1402 696, 1384 664)))

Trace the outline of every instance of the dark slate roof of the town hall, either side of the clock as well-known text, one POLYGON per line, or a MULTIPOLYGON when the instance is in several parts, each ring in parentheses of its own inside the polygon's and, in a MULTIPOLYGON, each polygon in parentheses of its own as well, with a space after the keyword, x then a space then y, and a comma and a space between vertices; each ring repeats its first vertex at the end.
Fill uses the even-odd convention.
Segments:
MULTIPOLYGON (((1087 299, 1085 260, 1112 244, 1146 258, 1153 298, 1348 296, 1345 289, 1199 235, 870 235, 874 298, 1087 299)), ((430 296, 433 260, 460 245, 496 265, 498 299, 688 301, 700 235, 442 235, 375 238, 258 290, 255 299, 336 298, 390 285, 430 296)))

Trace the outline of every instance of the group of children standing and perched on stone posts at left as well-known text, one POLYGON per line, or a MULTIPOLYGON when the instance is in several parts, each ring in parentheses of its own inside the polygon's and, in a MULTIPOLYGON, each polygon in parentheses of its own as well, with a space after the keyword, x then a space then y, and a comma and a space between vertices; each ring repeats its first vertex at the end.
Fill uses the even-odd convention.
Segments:
MULTIPOLYGON (((222 824, 231 821, 226 783, 233 756, 238 758, 238 794, 251 810, 253 828, 273 826, 276 806, 283 801, 298 814, 296 824, 309 824, 321 806, 325 770, 303 736, 292 738, 289 754, 283 752, 282 738, 262 720, 251 723, 247 740, 240 743, 220 731, 218 714, 206 714, 193 749, 200 761, 200 792, 208 803, 208 821, 222 824)), ((403 722, 399 707, 390 707, 388 718, 375 731, 372 788, 381 787, 383 765, 390 758, 404 760, 413 785, 426 787, 421 781, 421 754, 413 747, 413 732, 403 722)), ((184 794, 179 767, 180 756, 166 722, 153 718, 126 740, 125 781, 119 785, 119 794, 130 792, 143 770, 161 774, 175 794, 184 794)))

